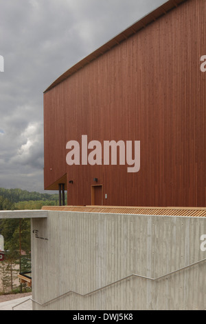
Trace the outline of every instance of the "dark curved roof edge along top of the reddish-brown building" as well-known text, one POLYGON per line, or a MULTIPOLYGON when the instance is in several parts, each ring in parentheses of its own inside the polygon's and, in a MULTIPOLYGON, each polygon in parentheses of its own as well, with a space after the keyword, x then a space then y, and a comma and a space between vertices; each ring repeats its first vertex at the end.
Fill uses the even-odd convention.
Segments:
POLYGON ((60 77, 58 77, 56 81, 49 85, 45 92, 51 90, 56 85, 58 85, 59 83, 70 77, 72 74, 83 68, 85 65, 89 64, 91 61, 102 56, 104 53, 108 52, 108 50, 111 50, 116 45, 119 45, 119 43, 122 43, 122 41, 125 41, 133 34, 136 34, 137 32, 139 32, 139 30, 146 28, 146 26, 148 26, 150 23, 159 19, 163 15, 170 12, 170 10, 176 8, 177 6, 181 5, 181 3, 184 3, 186 1, 187 0, 169 0, 163 3, 163 5, 159 6, 157 9, 153 10, 136 23, 133 23, 132 26, 126 28, 126 30, 124 30, 123 32, 120 32, 120 34, 117 34, 117 36, 113 37, 113 39, 102 45, 100 48, 98 48, 98 50, 95 50, 87 57, 84 57, 84 59, 82 59, 81 61, 73 65, 71 68, 69 68, 69 70, 67 70, 60 77))

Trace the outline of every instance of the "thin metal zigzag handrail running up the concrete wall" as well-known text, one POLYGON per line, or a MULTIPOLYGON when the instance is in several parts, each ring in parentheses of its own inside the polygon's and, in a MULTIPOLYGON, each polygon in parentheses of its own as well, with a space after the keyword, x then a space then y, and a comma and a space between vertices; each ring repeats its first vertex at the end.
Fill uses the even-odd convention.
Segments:
POLYGON ((59 298, 62 298, 62 297, 64 297, 64 296, 66 296, 67 294, 71 294, 71 293, 73 293, 73 294, 77 294, 77 295, 80 295, 80 296, 89 296, 90 294, 94 294, 95 292, 98 292, 98 291, 100 291, 100 290, 103 290, 103 289, 105 289, 105 288, 107 288, 107 287, 109 287, 109 286, 111 286, 111 285, 115 285, 115 283, 119 283, 120 281, 123 281, 123 280, 129 279, 129 278, 131 278, 131 277, 133 277, 133 276, 139 277, 139 278, 141 278, 141 279, 147 279, 147 280, 150 280, 150 281, 157 281, 157 280, 159 280, 159 279, 163 279, 163 278, 165 278, 165 276, 170 276, 171 274, 174 274, 174 273, 179 272, 179 271, 181 271, 181 270, 188 269, 189 267, 192 267, 192 266, 194 266, 194 265, 197 265, 198 263, 202 263, 203 261, 206 261, 206 259, 203 259, 203 260, 201 260, 201 261, 197 261, 197 262, 192 263, 192 264, 190 264, 190 265, 186 265, 185 267, 181 267, 180 269, 178 269, 178 270, 174 270, 174 271, 172 271, 172 272, 169 272, 168 274, 163 274, 163 276, 159 276, 159 277, 157 277, 157 278, 150 278, 150 277, 148 277, 148 276, 141 276, 140 274, 130 274, 130 275, 128 275, 128 276, 125 276, 125 277, 122 278, 122 279, 118 279, 117 281, 114 281, 113 283, 108 283, 107 285, 104 285, 103 287, 100 287, 100 288, 98 288, 98 289, 95 289, 95 290, 93 290, 92 292, 87 292, 86 294, 81 294, 80 292, 75 292, 75 291, 73 291, 73 290, 69 290, 69 292, 65 292, 65 294, 62 294, 62 295, 60 295, 60 296, 57 296, 57 297, 51 299, 50 301, 46 301, 45 303, 39 303, 38 301, 35 301, 33 298, 28 298, 27 300, 25 300, 25 301, 23 301, 23 302, 21 302, 21 303, 19 303, 19 304, 17 304, 17 305, 14 305, 14 306, 12 307, 12 310, 14 310, 14 307, 18 307, 19 305, 21 305, 21 304, 23 304, 23 303, 26 303, 27 301, 32 301, 32 302, 37 303, 38 305, 41 305, 41 306, 44 307, 45 305, 47 305, 47 304, 49 304, 49 303, 52 303, 52 302, 58 300, 59 298))

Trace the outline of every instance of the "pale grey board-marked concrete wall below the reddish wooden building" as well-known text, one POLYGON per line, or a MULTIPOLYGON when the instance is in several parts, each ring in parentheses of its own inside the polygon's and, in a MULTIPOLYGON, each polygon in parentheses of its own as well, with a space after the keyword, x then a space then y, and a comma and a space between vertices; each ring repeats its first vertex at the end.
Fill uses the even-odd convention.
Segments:
POLYGON ((49 211, 32 219, 33 308, 205 310, 203 234, 201 217, 49 211))

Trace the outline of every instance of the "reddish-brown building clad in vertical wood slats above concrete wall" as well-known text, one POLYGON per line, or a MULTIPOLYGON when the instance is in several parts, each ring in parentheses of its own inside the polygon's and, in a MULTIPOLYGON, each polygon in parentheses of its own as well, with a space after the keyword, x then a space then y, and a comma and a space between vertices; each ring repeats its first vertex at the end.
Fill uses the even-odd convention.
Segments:
POLYGON ((54 81, 44 92, 45 190, 67 190, 68 205, 205 207, 205 36, 206 1, 170 0, 54 81), (82 135, 102 147, 140 141, 140 170, 103 156, 68 165, 67 142, 82 135))

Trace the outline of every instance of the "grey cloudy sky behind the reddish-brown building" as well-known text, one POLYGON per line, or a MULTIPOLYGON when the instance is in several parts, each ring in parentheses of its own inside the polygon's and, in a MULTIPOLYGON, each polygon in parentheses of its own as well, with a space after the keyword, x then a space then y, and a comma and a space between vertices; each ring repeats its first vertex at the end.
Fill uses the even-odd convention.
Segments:
POLYGON ((44 192, 44 90, 80 59, 165 2, 0 0, 1 188, 44 192))

